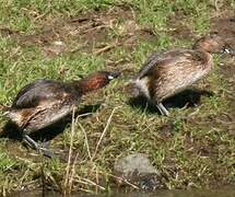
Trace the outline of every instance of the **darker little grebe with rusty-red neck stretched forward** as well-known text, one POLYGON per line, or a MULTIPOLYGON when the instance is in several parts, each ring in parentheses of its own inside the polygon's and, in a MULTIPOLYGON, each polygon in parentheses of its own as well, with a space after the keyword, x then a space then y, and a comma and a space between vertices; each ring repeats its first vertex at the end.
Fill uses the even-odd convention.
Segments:
POLYGON ((43 150, 28 135, 69 115, 82 95, 101 89, 119 73, 97 71, 80 81, 69 83, 39 79, 24 86, 5 115, 22 131, 23 139, 34 149, 43 150))

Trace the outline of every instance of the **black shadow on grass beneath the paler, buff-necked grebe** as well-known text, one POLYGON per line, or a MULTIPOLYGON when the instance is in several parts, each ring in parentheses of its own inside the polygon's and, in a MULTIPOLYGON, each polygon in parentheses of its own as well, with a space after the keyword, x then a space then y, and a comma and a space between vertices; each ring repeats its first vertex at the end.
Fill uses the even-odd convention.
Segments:
MULTIPOLYGON (((184 92, 174 95, 163 102, 166 108, 183 108, 183 107, 193 107, 200 104, 201 96, 212 96, 213 93, 204 90, 188 89, 184 92)), ((133 108, 140 108, 142 112, 150 114, 161 115, 157 107, 150 102, 144 96, 131 97, 128 104, 133 108)))

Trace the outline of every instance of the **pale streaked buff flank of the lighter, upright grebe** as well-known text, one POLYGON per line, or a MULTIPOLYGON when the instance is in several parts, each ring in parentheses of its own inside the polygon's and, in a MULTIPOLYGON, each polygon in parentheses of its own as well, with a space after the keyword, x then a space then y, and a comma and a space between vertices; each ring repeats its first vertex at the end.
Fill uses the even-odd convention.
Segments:
POLYGON ((165 54, 165 57, 146 73, 153 79, 152 94, 162 100, 191 85, 211 69, 210 55, 203 51, 177 50, 165 54))

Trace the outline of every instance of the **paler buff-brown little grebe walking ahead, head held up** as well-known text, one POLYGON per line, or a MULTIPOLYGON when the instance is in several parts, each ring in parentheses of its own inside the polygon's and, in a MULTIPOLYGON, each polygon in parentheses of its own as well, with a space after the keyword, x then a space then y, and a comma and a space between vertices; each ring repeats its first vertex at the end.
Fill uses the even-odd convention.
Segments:
POLYGON ((192 49, 173 49, 153 54, 133 81, 138 94, 143 94, 168 116, 162 102, 209 73, 212 53, 223 53, 224 42, 218 35, 205 36, 196 42, 192 49))

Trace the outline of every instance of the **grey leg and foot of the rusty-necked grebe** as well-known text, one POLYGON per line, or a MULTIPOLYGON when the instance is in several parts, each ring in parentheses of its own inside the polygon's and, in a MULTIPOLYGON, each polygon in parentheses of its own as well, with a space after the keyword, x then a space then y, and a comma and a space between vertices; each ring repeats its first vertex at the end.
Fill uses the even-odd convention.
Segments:
POLYGON ((46 147, 38 144, 28 135, 26 134, 23 135, 23 141, 26 142, 34 150, 38 152, 42 151, 45 157, 52 158, 51 152, 46 147))

